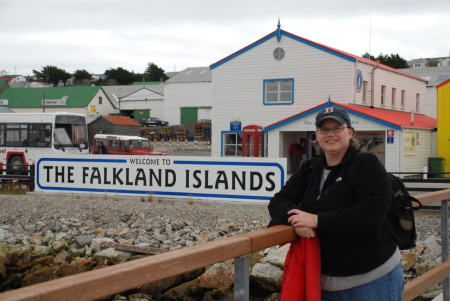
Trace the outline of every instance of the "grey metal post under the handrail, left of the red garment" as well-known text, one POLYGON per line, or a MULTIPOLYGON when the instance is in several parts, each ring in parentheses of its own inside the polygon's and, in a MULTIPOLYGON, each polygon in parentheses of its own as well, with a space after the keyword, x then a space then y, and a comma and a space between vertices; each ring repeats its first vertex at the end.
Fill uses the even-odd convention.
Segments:
POLYGON ((250 259, 243 256, 234 259, 234 300, 249 301, 250 299, 250 259))

